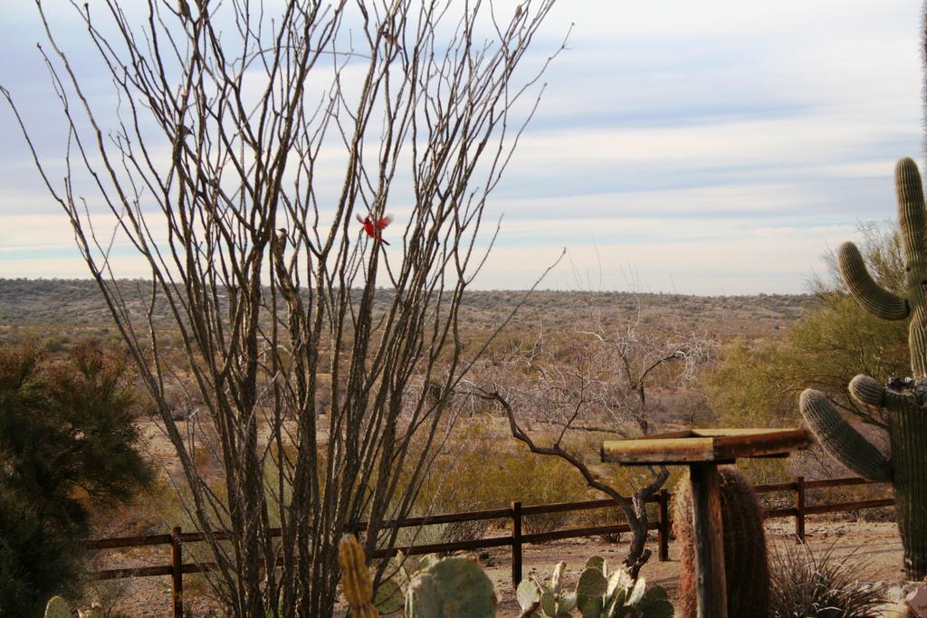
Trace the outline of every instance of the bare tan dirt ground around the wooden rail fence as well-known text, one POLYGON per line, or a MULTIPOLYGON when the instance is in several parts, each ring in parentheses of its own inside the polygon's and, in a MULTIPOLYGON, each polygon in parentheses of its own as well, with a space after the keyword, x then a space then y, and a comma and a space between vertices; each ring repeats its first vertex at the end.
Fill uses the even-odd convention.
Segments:
MULTIPOLYGON (((770 521, 767 525, 769 550, 777 545, 792 542, 791 520, 770 521)), ((838 557, 850 555, 851 561, 863 561, 869 582, 886 582, 901 585, 904 573, 901 568, 902 549, 894 523, 806 523, 807 542, 811 549, 822 550, 834 547, 838 557)), ((655 554, 655 537, 651 547, 655 554)), ((600 555, 609 564, 618 564, 627 551, 627 542, 607 544, 598 538, 571 539, 544 545, 530 545, 523 549, 523 574, 543 580, 549 577, 553 564, 566 561, 565 582, 572 586, 586 559, 600 555)), ((641 574, 649 585, 659 584, 667 588, 669 598, 674 602, 679 579, 679 546, 670 543, 669 561, 660 562, 654 558, 644 567, 641 574)), ((479 553, 472 554, 480 559, 479 553)), ((161 561, 163 556, 152 560, 161 561)), ((135 558, 135 564, 140 564, 135 558)), ((484 569, 492 578, 502 603, 499 616, 510 618, 518 615, 518 605, 512 588, 511 553, 507 548, 488 549, 480 559, 484 569)), ((124 562, 122 562, 124 564, 124 562)), ((142 562, 144 563, 144 561, 142 562)), ((167 577, 147 577, 129 580, 117 587, 109 585, 110 593, 120 599, 115 608, 129 616, 161 617, 170 615, 170 582, 167 577)), ((184 577, 186 590, 186 611, 189 616, 221 615, 214 601, 208 599, 207 586, 195 577, 184 577)), ((339 612, 343 615, 343 612, 339 612)))

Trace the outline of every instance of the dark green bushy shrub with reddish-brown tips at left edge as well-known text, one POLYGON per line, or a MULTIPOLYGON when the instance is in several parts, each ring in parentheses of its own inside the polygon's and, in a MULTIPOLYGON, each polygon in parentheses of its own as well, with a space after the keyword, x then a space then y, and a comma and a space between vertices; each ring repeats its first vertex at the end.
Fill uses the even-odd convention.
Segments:
POLYGON ((91 506, 128 500, 151 477, 133 418, 125 364, 100 348, 65 359, 0 349, 0 615, 79 594, 91 506))

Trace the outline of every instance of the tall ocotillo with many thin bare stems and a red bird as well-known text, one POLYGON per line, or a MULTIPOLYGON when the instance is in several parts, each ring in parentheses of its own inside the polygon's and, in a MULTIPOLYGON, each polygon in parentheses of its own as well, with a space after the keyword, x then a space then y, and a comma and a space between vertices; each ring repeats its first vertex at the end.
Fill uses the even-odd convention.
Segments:
POLYGON ((71 2, 110 115, 37 0, 63 180, 3 94, 157 402, 235 615, 331 615, 337 538, 366 520, 368 553, 396 542, 384 523, 412 509, 473 362, 458 308, 488 251, 487 196, 563 48, 527 57, 552 3, 147 0, 133 18, 71 2), (387 203, 405 207, 389 227, 387 203), (148 284, 118 278, 120 243, 148 284), (161 309, 209 412, 216 482, 171 415, 161 309))

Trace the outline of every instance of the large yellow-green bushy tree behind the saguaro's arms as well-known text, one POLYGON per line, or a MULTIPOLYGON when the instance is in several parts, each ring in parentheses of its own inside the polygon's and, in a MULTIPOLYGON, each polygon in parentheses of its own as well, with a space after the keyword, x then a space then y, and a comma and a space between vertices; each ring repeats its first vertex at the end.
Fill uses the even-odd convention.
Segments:
MULTIPOLYGON (((903 286, 905 272, 897 228, 860 228, 859 248, 868 270, 885 289, 903 286), (897 271, 895 271, 897 269, 897 271)), ((798 421, 798 394, 823 391, 845 410, 862 417, 846 385, 857 373, 879 381, 907 375, 908 324, 870 314, 849 296, 836 264, 815 282, 815 300, 806 315, 788 326, 780 340, 736 340, 724 348, 715 371, 703 379, 718 420, 726 426, 777 426, 798 421), (875 345, 874 345, 875 342, 875 345)))

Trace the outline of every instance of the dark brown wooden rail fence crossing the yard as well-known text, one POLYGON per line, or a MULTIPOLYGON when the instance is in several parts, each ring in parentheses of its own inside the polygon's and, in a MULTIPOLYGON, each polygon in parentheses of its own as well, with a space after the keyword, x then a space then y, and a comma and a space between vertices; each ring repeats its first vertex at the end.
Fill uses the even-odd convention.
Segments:
MULTIPOLYGON (((775 492, 791 492, 793 494, 792 501, 794 506, 788 508, 769 509, 766 511, 766 517, 767 519, 777 517, 794 517, 794 534, 798 539, 804 540, 806 515, 817 515, 821 513, 840 511, 857 511, 861 509, 875 509, 879 507, 889 507, 895 505, 895 500, 893 498, 859 500, 855 502, 839 502, 831 504, 806 504, 806 492, 809 489, 861 485, 883 484, 873 483, 862 478, 837 478, 819 481, 806 481, 804 477, 797 476, 790 483, 761 485, 756 486, 755 489, 756 493, 758 494, 768 494, 775 492)), ((657 505, 656 521, 651 522, 648 528, 650 530, 657 531, 657 559, 660 561, 669 560, 669 499, 670 493, 667 492, 666 489, 662 489, 658 494, 647 500, 648 503, 655 503, 657 505)), ((512 585, 518 586, 518 583, 522 579, 522 546, 524 545, 529 545, 532 543, 544 543, 547 541, 560 540, 565 538, 579 538, 585 536, 630 532, 630 526, 628 523, 616 523, 613 525, 569 528, 565 530, 554 530, 552 532, 526 535, 522 532, 522 523, 525 517, 558 512, 590 511, 592 509, 604 509, 609 507, 615 508, 616 506, 616 501, 612 499, 585 500, 581 502, 561 502, 556 504, 536 504, 529 506, 523 505, 521 502, 513 502, 511 508, 508 509, 448 513, 444 515, 432 515, 430 517, 414 517, 402 520, 400 522, 386 522, 383 524, 384 527, 391 527, 395 525, 400 528, 408 528, 422 525, 434 525, 439 523, 462 523, 507 519, 509 520, 510 534, 508 536, 489 536, 472 541, 416 545, 408 548, 380 549, 375 552, 373 558, 388 558, 395 556, 400 551, 407 555, 417 555, 436 552, 509 547, 512 550, 512 585)), ((358 526, 358 530, 363 530, 364 527, 365 524, 362 523, 360 526, 358 526)), ((279 536, 280 530, 273 530, 272 535, 279 536)), ((214 536, 218 540, 224 540, 229 538, 229 533, 216 532, 214 533, 214 536)), ((171 529, 171 534, 169 535, 101 538, 88 541, 85 547, 88 550, 98 551, 102 549, 128 549, 155 545, 169 546, 171 559, 169 564, 126 569, 108 569, 105 571, 98 571, 95 575, 97 579, 170 576, 171 615, 174 618, 179 618, 180 616, 183 616, 184 613, 184 574, 206 573, 214 570, 216 567, 214 562, 190 562, 184 564, 184 544, 197 543, 203 540, 205 540, 205 536, 202 533, 184 533, 180 526, 177 526, 171 529)))

